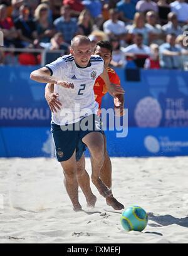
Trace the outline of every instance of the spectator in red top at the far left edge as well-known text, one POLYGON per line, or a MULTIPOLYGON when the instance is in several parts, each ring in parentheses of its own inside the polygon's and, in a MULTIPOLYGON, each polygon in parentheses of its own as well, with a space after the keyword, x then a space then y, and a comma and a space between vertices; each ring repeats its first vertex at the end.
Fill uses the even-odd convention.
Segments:
POLYGON ((14 27, 13 20, 7 16, 7 7, 5 4, 0 5, 0 29, 3 31, 4 46, 18 45, 18 32, 14 27))

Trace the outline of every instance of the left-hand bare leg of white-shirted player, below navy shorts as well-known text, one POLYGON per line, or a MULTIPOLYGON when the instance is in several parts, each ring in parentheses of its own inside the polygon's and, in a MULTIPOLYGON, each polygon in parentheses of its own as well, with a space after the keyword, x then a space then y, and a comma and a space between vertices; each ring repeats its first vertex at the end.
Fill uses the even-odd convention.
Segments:
POLYGON ((81 205, 78 201, 78 182, 76 179, 76 157, 75 152, 73 156, 67 161, 61 162, 63 173, 65 175, 64 184, 66 191, 73 204, 74 211, 80 211, 81 205))

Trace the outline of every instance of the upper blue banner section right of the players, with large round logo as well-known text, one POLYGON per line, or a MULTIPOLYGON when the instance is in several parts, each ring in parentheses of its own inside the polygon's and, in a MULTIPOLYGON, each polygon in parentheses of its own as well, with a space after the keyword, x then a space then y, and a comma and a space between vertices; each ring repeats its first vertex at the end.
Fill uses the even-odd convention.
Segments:
MULTIPOLYGON (((125 88, 129 127, 188 127, 188 72, 116 71, 125 88)), ((109 105, 113 107, 113 101, 107 94, 102 107, 109 105)))

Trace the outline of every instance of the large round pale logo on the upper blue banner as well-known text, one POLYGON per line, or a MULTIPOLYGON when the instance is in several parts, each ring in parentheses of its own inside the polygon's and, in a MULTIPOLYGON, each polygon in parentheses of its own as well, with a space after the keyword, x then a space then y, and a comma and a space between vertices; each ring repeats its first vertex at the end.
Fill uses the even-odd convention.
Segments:
POLYGON ((162 119, 159 102, 152 97, 141 99, 135 107, 135 121, 138 127, 158 127, 162 119))

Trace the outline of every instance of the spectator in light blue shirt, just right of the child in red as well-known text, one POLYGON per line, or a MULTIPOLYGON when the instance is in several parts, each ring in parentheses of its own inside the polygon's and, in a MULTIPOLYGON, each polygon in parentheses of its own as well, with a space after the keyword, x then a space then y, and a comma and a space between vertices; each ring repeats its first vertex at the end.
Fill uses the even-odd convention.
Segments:
POLYGON ((175 34, 169 34, 166 43, 160 46, 160 66, 162 68, 177 69, 182 67, 181 48, 175 45, 175 34))

